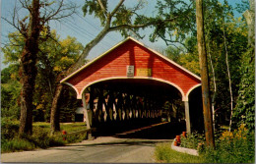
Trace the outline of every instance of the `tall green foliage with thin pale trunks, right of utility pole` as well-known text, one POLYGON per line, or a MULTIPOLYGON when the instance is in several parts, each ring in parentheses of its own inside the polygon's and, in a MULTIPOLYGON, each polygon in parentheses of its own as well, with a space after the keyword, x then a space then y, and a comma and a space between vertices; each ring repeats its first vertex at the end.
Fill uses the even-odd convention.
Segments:
MULTIPOLYGON (((230 93, 226 76, 224 37, 228 53, 233 106, 235 106, 239 89, 238 83, 242 76, 237 70, 242 63, 241 54, 246 51, 247 47, 247 29, 243 19, 233 16, 233 9, 227 1, 220 3, 218 0, 207 0, 205 4, 207 51, 209 55, 211 54, 217 86, 217 91, 214 92, 214 83, 211 82, 212 92, 215 94, 212 97, 215 97, 213 103, 216 109, 216 121, 218 121, 216 125, 219 126, 227 124, 230 118, 230 93)), ((210 63, 209 66, 211 66, 210 63)), ((211 71, 210 73, 210 78, 213 79, 213 74, 211 71)))

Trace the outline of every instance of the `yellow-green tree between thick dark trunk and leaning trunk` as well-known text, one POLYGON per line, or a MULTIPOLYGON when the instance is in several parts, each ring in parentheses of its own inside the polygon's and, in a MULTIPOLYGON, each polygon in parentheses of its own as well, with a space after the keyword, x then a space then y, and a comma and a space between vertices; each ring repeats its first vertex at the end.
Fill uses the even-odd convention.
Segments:
MULTIPOLYGON (((65 39, 60 39, 60 36, 54 30, 51 32, 51 36, 54 39, 48 39, 48 41, 40 44, 41 52, 38 57, 38 76, 36 79, 37 84, 35 85, 36 90, 39 90, 35 94, 38 97, 36 109, 37 111, 45 110, 47 121, 52 117, 50 116, 50 109, 59 76, 77 61, 84 48, 74 37, 67 36, 65 39)), ((64 90, 67 90, 67 88, 64 90)), ((63 95, 61 94, 61 96, 63 95)), ((60 108, 69 103, 69 98, 66 101, 63 97, 61 99, 63 99, 62 103, 57 104, 60 108)), ((76 105, 74 105, 74 108, 76 108, 76 105)), ((59 119, 56 119, 56 122, 59 122, 59 119)), ((59 124, 57 123, 56 125, 59 124)))

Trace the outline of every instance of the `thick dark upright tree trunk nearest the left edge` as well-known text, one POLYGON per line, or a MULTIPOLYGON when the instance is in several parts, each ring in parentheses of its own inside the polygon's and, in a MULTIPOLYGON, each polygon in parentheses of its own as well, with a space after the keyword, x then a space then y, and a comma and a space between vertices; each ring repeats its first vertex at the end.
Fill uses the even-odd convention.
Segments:
POLYGON ((21 58, 21 119, 19 136, 32 134, 32 95, 36 77, 36 59, 38 52, 39 24, 39 0, 32 1, 32 13, 26 44, 21 58))

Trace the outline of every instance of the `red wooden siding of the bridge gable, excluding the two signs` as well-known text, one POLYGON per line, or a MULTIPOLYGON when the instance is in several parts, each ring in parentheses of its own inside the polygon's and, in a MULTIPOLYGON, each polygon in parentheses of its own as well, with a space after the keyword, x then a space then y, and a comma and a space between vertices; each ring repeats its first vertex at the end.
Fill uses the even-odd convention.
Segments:
POLYGON ((169 63, 148 48, 129 39, 103 55, 94 63, 78 72, 66 82, 74 85, 79 94, 83 88, 96 81, 110 78, 125 78, 127 66, 134 66, 134 77, 138 77, 137 69, 152 69, 152 78, 167 81, 179 86, 184 94, 200 80, 190 75, 186 71, 169 63))

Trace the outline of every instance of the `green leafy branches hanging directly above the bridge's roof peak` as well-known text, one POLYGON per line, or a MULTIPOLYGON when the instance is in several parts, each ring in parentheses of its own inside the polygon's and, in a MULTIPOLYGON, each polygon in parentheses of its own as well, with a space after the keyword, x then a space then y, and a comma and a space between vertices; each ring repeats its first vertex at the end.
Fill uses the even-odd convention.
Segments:
POLYGON ((101 2, 102 6, 100 6, 98 1, 87 0, 82 8, 84 16, 95 16, 100 21, 100 26, 104 27, 104 30, 107 29, 105 31, 102 30, 101 33, 117 30, 125 37, 130 35, 130 31, 140 35, 138 32, 139 27, 135 25, 147 25, 152 21, 139 13, 144 7, 145 1, 138 1, 138 3, 132 7, 127 7, 128 5, 124 3, 120 4, 120 6, 115 4, 115 7, 113 7, 110 6, 114 4, 112 2, 109 3, 107 0, 102 0, 101 2), (112 11, 110 9, 112 9, 112 11))

